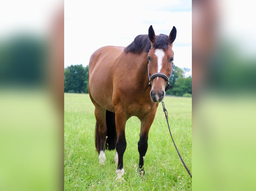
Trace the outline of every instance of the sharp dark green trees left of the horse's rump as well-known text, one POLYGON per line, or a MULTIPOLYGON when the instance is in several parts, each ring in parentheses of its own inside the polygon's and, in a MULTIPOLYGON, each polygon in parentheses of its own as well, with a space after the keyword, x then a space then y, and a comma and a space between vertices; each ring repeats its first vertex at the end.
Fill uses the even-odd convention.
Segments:
POLYGON ((88 69, 83 65, 71 65, 64 70, 64 92, 88 93, 88 69))

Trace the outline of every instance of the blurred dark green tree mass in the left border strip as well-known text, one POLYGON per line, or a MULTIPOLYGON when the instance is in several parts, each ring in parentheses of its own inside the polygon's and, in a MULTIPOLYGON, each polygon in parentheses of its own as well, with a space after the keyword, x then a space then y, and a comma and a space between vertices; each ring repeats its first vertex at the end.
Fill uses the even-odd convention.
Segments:
POLYGON ((42 39, 21 34, 0 40, 0 84, 40 85, 46 76, 46 46, 42 39))

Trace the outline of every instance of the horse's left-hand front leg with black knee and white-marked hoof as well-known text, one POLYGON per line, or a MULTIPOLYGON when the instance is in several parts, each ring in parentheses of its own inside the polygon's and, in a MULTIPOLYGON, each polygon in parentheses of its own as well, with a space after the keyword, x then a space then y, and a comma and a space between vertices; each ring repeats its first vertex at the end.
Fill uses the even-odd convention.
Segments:
POLYGON ((117 142, 116 142, 116 152, 118 154, 118 165, 117 165, 117 179, 120 179, 124 174, 123 167, 123 156, 126 149, 126 139, 125 139, 125 124, 127 121, 127 116, 124 111, 116 110, 116 130, 117 130, 117 142))

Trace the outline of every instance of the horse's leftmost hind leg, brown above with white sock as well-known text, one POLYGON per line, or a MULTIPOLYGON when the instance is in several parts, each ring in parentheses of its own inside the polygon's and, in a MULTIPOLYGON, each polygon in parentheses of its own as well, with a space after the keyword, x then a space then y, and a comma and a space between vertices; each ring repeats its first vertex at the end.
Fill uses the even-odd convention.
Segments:
MULTIPOLYGON (((105 155, 105 143, 107 136, 107 126, 106 126, 106 109, 102 108, 100 105, 95 104, 95 118, 98 126, 96 125, 96 139, 100 139, 100 145, 97 147, 97 151, 99 152, 99 163, 103 164, 106 160, 105 155), (97 129, 98 127, 98 129, 97 129), (99 136, 97 137, 97 133, 99 136)), ((98 141, 98 140, 95 140, 98 141)))

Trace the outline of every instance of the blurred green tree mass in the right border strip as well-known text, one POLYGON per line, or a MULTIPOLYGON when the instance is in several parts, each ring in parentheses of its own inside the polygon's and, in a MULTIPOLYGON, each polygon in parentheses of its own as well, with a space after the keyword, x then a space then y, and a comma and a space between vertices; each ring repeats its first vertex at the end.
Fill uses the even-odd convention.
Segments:
POLYGON ((256 54, 237 49, 240 45, 225 41, 216 49, 207 65, 205 84, 222 93, 245 93, 256 89, 256 54))

